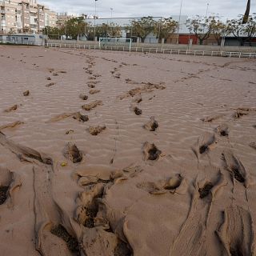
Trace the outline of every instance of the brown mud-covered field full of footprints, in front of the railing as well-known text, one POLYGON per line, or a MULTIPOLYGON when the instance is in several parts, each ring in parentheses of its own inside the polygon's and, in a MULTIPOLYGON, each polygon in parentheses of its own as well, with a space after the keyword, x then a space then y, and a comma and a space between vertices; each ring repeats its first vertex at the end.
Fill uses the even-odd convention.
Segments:
POLYGON ((256 62, 0 46, 0 251, 254 255, 256 62))

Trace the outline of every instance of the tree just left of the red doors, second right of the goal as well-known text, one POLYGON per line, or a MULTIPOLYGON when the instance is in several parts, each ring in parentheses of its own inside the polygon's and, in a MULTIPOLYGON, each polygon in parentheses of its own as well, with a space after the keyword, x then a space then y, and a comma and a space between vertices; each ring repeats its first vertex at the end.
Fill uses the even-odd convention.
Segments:
POLYGON ((154 34, 160 40, 164 38, 166 41, 177 28, 178 22, 175 22, 172 18, 161 18, 158 22, 154 22, 154 34))

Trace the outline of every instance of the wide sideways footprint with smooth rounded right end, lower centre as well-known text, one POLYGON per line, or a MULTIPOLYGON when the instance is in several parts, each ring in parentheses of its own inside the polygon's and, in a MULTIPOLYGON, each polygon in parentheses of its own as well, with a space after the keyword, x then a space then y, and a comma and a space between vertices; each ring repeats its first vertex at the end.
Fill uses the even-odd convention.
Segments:
POLYGON ((150 194, 159 195, 170 192, 174 194, 182 184, 182 175, 174 174, 174 176, 158 182, 142 182, 137 184, 137 187, 146 190, 150 194))

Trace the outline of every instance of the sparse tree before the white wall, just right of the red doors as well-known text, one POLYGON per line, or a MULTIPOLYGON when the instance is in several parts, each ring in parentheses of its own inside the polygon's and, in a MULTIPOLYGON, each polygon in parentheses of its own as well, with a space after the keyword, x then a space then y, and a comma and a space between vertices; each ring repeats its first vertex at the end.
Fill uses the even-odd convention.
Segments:
POLYGON ((210 34, 214 30, 214 17, 200 17, 196 16, 195 18, 188 19, 186 26, 190 30, 190 33, 193 32, 198 38, 200 45, 210 37, 210 34))

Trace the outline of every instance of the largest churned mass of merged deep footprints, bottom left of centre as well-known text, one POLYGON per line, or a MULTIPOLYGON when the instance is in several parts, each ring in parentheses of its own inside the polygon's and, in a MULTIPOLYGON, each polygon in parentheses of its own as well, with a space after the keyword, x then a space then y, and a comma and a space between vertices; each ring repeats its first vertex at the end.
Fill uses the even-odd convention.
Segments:
POLYGON ((100 255, 102 251, 106 255, 131 256, 132 250, 126 238, 119 238, 120 233, 116 232, 123 229, 125 218, 112 220, 108 214, 110 209, 104 202, 106 190, 122 178, 122 172, 102 166, 87 168, 76 173, 78 183, 84 187, 84 191, 78 195, 78 207, 74 213, 75 220, 85 229, 82 250, 88 256, 100 255))

